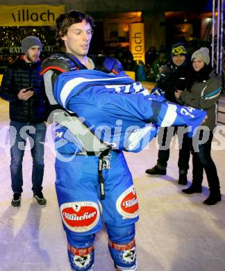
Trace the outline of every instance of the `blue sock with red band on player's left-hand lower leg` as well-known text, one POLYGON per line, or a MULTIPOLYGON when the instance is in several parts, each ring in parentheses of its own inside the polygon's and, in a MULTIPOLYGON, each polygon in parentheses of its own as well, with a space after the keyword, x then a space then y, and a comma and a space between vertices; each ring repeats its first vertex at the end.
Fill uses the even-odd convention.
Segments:
POLYGON ((69 263, 74 271, 94 270, 94 234, 68 236, 69 263))

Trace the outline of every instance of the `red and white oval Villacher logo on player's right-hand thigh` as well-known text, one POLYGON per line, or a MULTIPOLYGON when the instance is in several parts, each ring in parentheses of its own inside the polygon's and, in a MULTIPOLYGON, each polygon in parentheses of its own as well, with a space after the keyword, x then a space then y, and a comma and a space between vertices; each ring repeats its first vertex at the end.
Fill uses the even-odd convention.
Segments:
POLYGON ((138 216, 138 199, 134 186, 130 186, 117 199, 117 211, 126 218, 138 216))

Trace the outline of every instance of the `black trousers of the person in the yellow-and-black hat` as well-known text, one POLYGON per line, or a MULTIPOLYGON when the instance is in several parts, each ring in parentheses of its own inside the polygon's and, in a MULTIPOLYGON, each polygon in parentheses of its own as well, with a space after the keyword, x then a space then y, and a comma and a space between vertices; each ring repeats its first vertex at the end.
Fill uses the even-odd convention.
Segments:
MULTIPOLYGON (((158 151, 157 166, 160 169, 167 168, 167 162, 169 160, 169 147, 172 142, 173 136, 177 133, 178 129, 184 129, 184 127, 165 127, 158 135, 158 145, 160 149, 158 151)), ((190 147, 188 143, 188 136, 178 136, 179 142, 179 156, 178 156, 178 168, 179 173, 187 174, 189 169, 189 159, 190 159, 190 147)))

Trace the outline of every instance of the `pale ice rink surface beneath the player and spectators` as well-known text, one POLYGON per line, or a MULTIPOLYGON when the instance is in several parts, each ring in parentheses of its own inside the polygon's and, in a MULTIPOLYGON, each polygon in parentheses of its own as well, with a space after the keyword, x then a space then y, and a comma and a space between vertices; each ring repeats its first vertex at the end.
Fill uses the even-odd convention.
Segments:
MULTIPOLYGON (((222 117, 221 117, 222 118, 222 117)), ((32 159, 25 152, 24 192, 20 208, 12 208, 8 103, 0 99, 0 270, 69 271, 67 240, 58 211, 55 192, 54 146, 51 129, 45 145, 44 196, 47 206, 33 202, 32 159), (49 142, 48 142, 49 141, 49 142)), ((156 140, 138 154, 126 158, 133 174, 140 220, 136 224, 138 271, 224 271, 225 270, 225 129, 212 156, 222 188, 222 202, 202 204, 208 197, 206 176, 203 193, 185 195, 178 185, 176 137, 171 147, 167 175, 149 176, 144 171, 156 164, 156 140), (220 147, 218 147, 220 146, 220 147), (220 148, 220 150, 218 150, 220 148)), ((192 163, 188 172, 192 180, 192 163)), ((95 271, 113 271, 105 229, 95 240, 95 271)))

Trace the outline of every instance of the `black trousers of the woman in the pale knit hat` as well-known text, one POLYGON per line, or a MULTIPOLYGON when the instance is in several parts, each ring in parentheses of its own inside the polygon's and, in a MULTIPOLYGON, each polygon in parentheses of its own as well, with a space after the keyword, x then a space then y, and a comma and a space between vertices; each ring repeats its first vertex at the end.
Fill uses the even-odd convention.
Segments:
MULTIPOLYGON (((211 157, 211 144, 213 140, 213 131, 209 132, 208 140, 198 145, 199 150, 197 149, 197 145, 193 144, 192 138, 189 138, 190 147, 192 151, 192 164, 193 164, 193 184, 196 186, 201 186, 203 181, 203 170, 206 172, 208 186, 211 194, 220 194, 219 189, 219 178, 217 175, 217 168, 213 159, 211 157)), ((200 131, 199 134, 195 136, 195 140, 199 138, 199 140, 203 140, 203 130, 200 131)))

